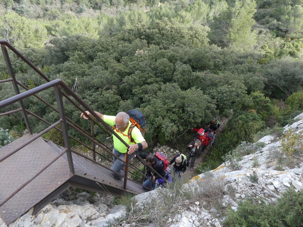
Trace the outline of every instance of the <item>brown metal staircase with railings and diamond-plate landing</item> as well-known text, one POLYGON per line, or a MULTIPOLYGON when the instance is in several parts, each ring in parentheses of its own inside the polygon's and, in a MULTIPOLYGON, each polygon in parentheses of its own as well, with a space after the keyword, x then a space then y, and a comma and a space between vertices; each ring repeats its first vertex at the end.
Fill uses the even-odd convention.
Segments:
MULTIPOLYGON (((145 192, 142 188, 143 179, 146 178, 143 173, 145 170, 141 172, 130 162, 120 159, 125 163, 125 174, 122 176, 123 181, 120 182, 112 177, 112 170, 110 168, 96 161, 96 155, 99 155, 112 162, 111 159, 96 151, 96 145, 111 155, 114 154, 110 147, 95 138, 94 124, 108 134, 115 134, 111 127, 100 119, 98 115, 60 79, 50 81, 48 77, 7 41, 0 40, 0 44, 3 59, 6 62, 8 73, 11 77, 11 79, 2 80, 0 83, 12 82, 16 94, 6 100, 0 100, 0 117, 21 112, 28 130, 28 134, 0 148, 0 216, 4 222, 9 225, 32 207, 34 207, 33 214, 37 213, 69 186, 108 193, 115 196, 121 196, 125 193, 140 194, 145 192), (46 81, 45 84, 32 89, 28 89, 21 84, 15 78, 7 48, 43 77, 46 81), (25 91, 20 93, 19 88, 25 91), (37 95, 46 89, 54 90, 57 107, 50 105, 46 100, 43 100, 37 95), (35 97, 37 102, 42 102, 45 105, 45 108, 51 108, 52 111, 57 112, 59 115, 58 121, 50 123, 27 110, 23 100, 28 97, 35 97), (64 101, 64 99, 68 100, 68 102, 64 101), (8 106, 13 103, 19 103, 20 109, 9 110, 4 113, 4 107, 8 108, 8 106), (79 113, 85 110, 92 113, 96 119, 90 118, 91 132, 87 132, 70 120, 68 116, 65 116, 64 110, 66 103, 77 107, 79 113), (41 120, 46 125, 49 125, 49 127, 41 132, 33 133, 28 121, 28 115, 41 120), (58 125, 61 125, 61 129, 58 125), (59 147, 52 141, 46 141, 41 137, 51 129, 56 129, 62 133, 65 143, 64 147, 59 147), (71 129, 79 133, 82 138, 86 138, 86 142, 81 142, 69 135, 68 130, 71 129), (93 158, 91 159, 72 150, 70 140, 74 140, 90 150, 93 158), (87 141, 90 141, 91 144, 88 145, 87 141), (134 174, 134 170, 137 172, 135 173, 137 177, 142 177, 141 184, 129 177, 129 173, 134 174)), ((128 147, 123 140, 121 140, 121 142, 128 147)), ((137 158, 144 166, 147 166, 147 163, 142 160, 141 157, 137 158)), ((126 160, 128 160, 128 155, 126 156, 126 160)), ((150 187, 151 184, 149 189, 150 187)))

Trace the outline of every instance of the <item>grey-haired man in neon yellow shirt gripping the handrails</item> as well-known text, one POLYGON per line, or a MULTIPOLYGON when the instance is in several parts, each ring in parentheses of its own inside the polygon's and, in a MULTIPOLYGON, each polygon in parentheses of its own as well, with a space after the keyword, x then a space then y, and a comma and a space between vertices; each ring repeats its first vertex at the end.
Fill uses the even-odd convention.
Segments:
MULTIPOLYGON (((119 137, 122 140, 124 140, 129 145, 128 148, 129 160, 131 160, 135 156, 135 154, 133 153, 136 150, 142 150, 147 148, 148 145, 145 139, 143 138, 140 130, 137 127, 134 127, 132 130, 132 138, 135 140, 136 143, 131 143, 129 141, 127 133, 132 123, 129 121, 129 116, 127 113, 119 112, 116 116, 103 115, 102 113, 96 111, 95 113, 110 126, 112 127, 114 125, 116 126, 115 132, 119 135, 119 137)), ((81 113, 80 117, 83 117, 85 120, 88 120, 87 117, 88 115, 90 115, 90 113, 86 111, 86 113, 81 113)), ((114 149, 112 152, 126 162, 127 147, 114 134, 113 134, 113 139, 114 139, 114 149)), ((112 165, 111 169, 118 172, 121 175, 124 175, 123 170, 125 164, 119 159, 117 159, 115 156, 113 156, 113 160, 114 160, 114 164, 112 165)), ((112 172, 112 175, 118 180, 122 179, 120 175, 114 172, 112 172)))

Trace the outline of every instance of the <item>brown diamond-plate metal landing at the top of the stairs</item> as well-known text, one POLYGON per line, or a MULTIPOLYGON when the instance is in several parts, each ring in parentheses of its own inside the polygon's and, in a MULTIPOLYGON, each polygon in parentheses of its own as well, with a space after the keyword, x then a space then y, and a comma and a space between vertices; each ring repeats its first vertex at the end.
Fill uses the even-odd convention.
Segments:
MULTIPOLYGON (((26 134, 0 148, 0 156, 11 152, 32 137, 32 135, 26 134)), ((0 163, 0 201, 6 199, 57 155, 58 153, 42 138, 38 138, 2 161, 0 163)), ((72 176, 64 158, 60 157, 0 207, 1 218, 7 225, 10 224, 72 176)))

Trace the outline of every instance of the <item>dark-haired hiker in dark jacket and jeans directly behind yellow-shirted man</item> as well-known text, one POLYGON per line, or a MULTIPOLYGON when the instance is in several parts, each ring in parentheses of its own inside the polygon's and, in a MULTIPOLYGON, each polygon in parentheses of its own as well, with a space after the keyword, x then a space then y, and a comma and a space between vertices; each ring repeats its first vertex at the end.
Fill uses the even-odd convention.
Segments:
MULTIPOLYGON (((151 155, 151 154, 138 154, 141 158, 145 159, 146 163, 148 165, 150 165, 153 169, 155 169, 156 172, 158 172, 160 175, 158 175, 157 173, 153 173, 153 171, 151 170, 151 168, 149 168, 148 166, 146 167, 146 174, 145 176, 147 176, 149 179, 146 179, 145 182, 143 182, 143 186, 142 188, 145 191, 149 191, 148 187, 149 184, 152 181, 156 181, 158 179, 162 179, 165 178, 165 171, 164 171, 164 166, 162 161, 158 160, 158 158, 155 155, 151 155), (154 176, 155 175, 155 176, 154 176), (153 178, 151 179, 151 176, 153 176, 153 178), (161 178, 162 177, 162 178, 161 178)), ((155 183, 151 183, 151 190, 155 189, 155 183)))

